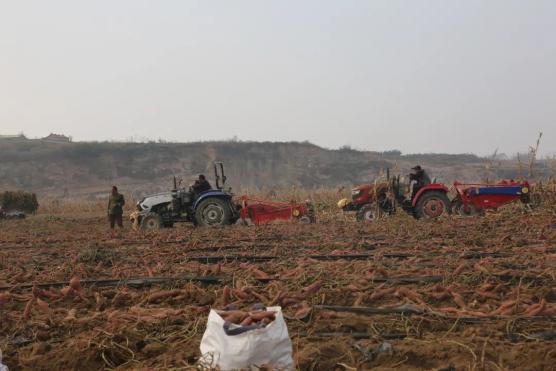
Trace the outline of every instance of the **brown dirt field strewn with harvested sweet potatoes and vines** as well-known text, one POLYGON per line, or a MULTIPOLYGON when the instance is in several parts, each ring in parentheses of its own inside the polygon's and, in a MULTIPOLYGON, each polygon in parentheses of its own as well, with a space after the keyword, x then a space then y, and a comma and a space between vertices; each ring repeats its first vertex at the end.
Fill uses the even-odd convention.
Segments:
POLYGON ((555 210, 114 237, 100 212, 0 221, 3 362, 195 369, 209 309, 262 302, 301 370, 554 370, 555 210))

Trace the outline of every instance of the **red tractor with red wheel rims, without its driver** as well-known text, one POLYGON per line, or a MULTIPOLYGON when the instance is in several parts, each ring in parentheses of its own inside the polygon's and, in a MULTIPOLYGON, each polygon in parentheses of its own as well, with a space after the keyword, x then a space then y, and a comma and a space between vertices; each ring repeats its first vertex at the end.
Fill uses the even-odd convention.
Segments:
POLYGON ((409 187, 400 185, 400 177, 386 182, 365 184, 351 190, 351 201, 342 199, 338 207, 344 211, 355 211, 357 220, 374 220, 384 214, 392 214, 398 206, 415 218, 437 218, 450 214, 451 201, 448 188, 433 182, 419 189, 411 197, 409 187))

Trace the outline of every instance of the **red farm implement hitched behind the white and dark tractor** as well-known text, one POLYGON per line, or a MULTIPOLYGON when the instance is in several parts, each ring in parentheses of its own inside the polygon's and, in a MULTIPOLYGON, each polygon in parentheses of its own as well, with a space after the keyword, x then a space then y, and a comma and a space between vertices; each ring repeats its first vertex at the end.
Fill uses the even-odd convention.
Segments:
POLYGON ((241 197, 239 222, 244 224, 264 224, 278 220, 299 220, 309 224, 315 221, 310 202, 293 203, 262 200, 249 196, 241 197))

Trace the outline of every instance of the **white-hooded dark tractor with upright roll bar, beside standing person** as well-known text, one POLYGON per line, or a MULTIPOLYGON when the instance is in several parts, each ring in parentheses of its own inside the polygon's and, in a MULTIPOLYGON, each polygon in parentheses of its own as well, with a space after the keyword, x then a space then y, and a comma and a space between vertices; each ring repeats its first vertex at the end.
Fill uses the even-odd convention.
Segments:
POLYGON ((197 193, 193 187, 181 187, 174 177, 170 192, 143 198, 130 219, 136 229, 156 230, 171 228, 174 223, 190 222, 200 226, 232 224, 239 218, 239 210, 232 202, 231 189, 225 189, 224 164, 214 163, 215 189, 197 193))

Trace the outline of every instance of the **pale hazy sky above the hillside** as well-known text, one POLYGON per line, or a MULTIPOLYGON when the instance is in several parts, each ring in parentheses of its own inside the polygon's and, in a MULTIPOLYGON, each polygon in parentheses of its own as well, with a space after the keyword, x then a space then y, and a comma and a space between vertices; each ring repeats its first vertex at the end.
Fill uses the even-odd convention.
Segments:
POLYGON ((556 1, 0 0, 0 133, 556 152, 556 1))

